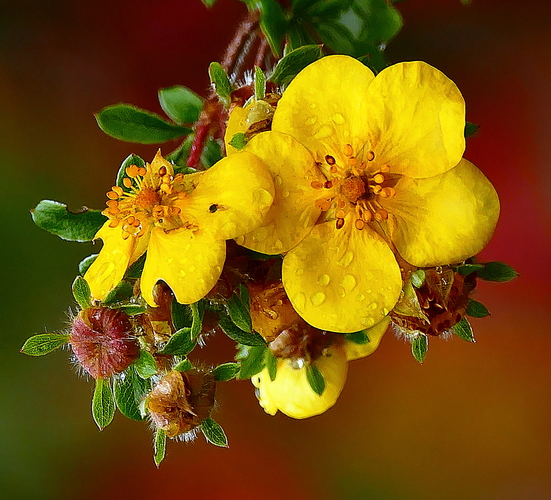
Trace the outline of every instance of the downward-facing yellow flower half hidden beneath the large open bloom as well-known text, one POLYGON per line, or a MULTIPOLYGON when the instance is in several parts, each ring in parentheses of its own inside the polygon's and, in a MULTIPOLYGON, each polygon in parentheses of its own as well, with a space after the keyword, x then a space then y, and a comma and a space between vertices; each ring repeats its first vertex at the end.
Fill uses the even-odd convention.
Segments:
POLYGON ((321 356, 311 363, 302 358, 278 358, 274 380, 270 379, 267 368, 251 379, 257 388, 260 406, 269 415, 275 415, 279 410, 292 418, 308 418, 324 413, 337 402, 344 387, 348 361, 375 351, 389 322, 385 318, 371 328, 367 332, 367 344, 356 344, 337 336, 337 341, 324 349, 321 356), (309 364, 314 365, 323 375, 325 390, 321 395, 315 393, 308 382, 309 364))

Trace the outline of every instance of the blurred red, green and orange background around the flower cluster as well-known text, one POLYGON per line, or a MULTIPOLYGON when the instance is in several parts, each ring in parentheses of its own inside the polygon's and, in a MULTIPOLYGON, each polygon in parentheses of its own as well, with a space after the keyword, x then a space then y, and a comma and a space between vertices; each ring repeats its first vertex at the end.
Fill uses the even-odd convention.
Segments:
MULTIPOLYGON (((20 354, 66 326, 70 284, 91 244, 34 227, 55 199, 102 207, 129 153, 93 113, 116 102, 160 112, 159 88, 208 85, 244 15, 236 0, 0 2, 0 492, 14 499, 551 498, 551 7, 545 1, 406 0, 393 62, 425 60, 464 93, 481 125, 466 156, 494 182, 501 220, 485 260, 521 273, 482 283, 492 316, 477 342, 432 340, 426 361, 387 335, 351 364, 333 409, 270 417, 246 382, 224 384, 215 418, 229 449, 169 443, 156 469, 147 425, 117 415, 99 432, 92 383, 67 351, 20 354)), ((216 339, 211 361, 228 360, 216 339)))

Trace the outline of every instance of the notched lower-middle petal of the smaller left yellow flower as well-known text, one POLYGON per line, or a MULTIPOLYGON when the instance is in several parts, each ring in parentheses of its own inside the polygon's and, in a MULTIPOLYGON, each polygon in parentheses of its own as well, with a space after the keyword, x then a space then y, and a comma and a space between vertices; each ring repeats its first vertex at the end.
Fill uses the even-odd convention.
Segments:
POLYGON ((153 287, 163 280, 181 304, 202 299, 218 281, 226 258, 226 242, 188 229, 151 231, 141 279, 146 302, 155 307, 153 287))

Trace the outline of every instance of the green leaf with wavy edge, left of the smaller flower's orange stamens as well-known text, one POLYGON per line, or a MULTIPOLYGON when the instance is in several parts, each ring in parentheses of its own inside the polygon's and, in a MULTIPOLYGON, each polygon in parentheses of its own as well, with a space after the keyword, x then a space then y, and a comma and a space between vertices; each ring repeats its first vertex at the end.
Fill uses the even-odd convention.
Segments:
POLYGON ((33 210, 31 217, 41 229, 67 241, 91 241, 107 220, 100 210, 82 207, 70 212, 67 205, 52 200, 42 200, 33 210))

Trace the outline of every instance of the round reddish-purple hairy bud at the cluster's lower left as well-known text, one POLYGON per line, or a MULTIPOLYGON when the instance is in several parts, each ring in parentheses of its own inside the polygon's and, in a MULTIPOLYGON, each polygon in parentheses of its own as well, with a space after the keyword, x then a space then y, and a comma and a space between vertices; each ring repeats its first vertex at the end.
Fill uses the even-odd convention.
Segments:
POLYGON ((73 320, 69 343, 82 367, 95 379, 126 370, 140 354, 128 316, 105 307, 80 311, 73 320))

